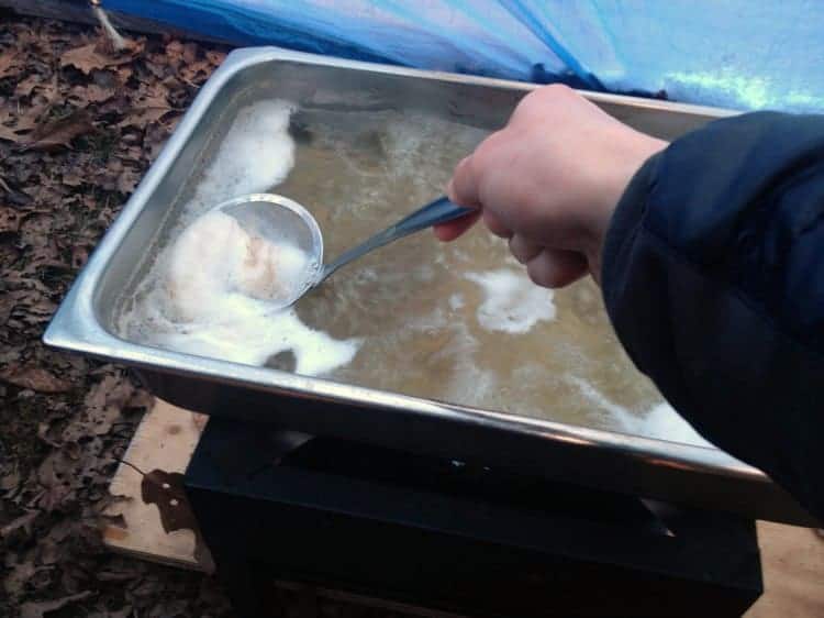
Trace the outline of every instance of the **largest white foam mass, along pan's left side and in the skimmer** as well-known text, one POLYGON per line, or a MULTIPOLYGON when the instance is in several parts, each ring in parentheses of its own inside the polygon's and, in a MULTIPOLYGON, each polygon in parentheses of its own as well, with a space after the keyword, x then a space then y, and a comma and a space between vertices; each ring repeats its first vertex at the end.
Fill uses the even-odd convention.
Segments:
POLYGON ((238 113, 207 167, 181 220, 190 222, 158 256, 124 313, 126 329, 164 347, 263 365, 291 351, 296 372, 327 373, 352 361, 357 340, 337 341, 278 309, 305 274, 309 256, 293 244, 248 234, 218 203, 281 183, 294 165, 286 101, 260 101, 238 113), (203 212, 207 213, 203 214, 203 212))

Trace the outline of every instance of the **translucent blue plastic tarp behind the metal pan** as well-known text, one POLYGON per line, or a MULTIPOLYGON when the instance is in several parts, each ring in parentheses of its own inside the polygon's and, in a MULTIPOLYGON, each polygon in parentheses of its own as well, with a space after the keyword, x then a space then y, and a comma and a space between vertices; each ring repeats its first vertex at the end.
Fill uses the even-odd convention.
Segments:
POLYGON ((103 0, 237 45, 824 112, 820 0, 103 0))

